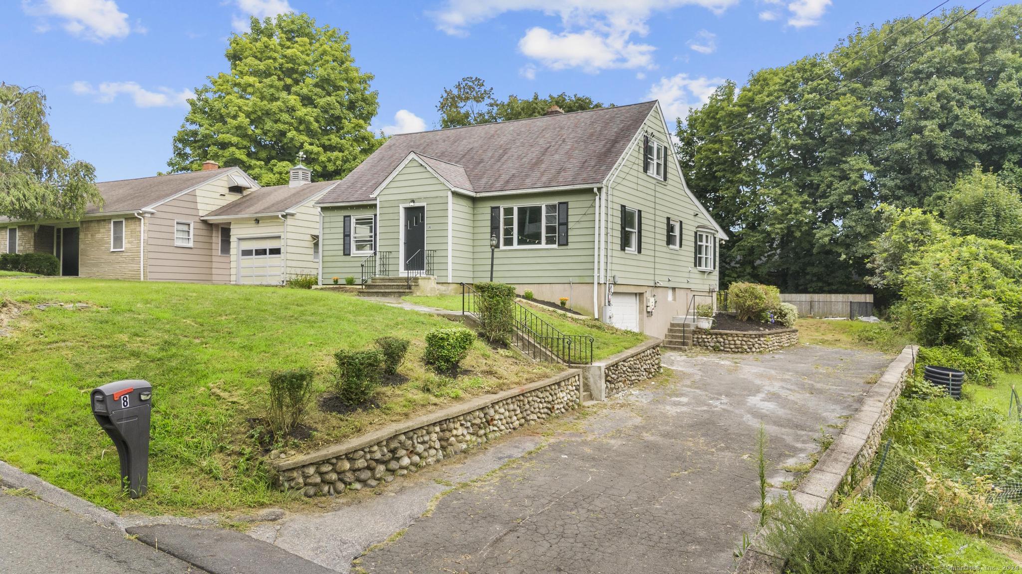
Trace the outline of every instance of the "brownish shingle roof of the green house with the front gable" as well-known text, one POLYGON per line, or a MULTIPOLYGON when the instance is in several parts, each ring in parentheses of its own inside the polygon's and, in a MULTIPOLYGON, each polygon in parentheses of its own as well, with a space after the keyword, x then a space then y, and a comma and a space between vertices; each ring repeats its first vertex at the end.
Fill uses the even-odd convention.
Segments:
POLYGON ((632 137, 655 105, 655 101, 650 101, 399 134, 319 202, 370 200, 370 194, 412 151, 439 160, 437 164, 447 163, 452 178, 460 177, 455 168, 461 168, 465 183, 469 184, 465 189, 476 193, 599 184, 624 153, 632 137))

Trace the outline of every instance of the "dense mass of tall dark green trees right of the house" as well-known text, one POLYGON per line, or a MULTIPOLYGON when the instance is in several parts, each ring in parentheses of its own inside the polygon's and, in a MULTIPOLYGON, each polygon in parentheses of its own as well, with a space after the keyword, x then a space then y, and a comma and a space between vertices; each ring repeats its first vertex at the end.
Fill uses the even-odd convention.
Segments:
POLYGON ((724 284, 861 291, 877 206, 939 208, 976 163, 1018 173, 1022 6, 964 15, 857 30, 726 83, 679 123, 688 183, 731 230, 724 284))

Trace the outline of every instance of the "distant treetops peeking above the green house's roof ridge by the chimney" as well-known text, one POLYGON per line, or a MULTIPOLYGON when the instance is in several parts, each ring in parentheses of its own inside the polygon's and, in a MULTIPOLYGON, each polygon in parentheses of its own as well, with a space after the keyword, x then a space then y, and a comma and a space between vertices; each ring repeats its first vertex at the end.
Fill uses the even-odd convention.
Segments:
MULTIPOLYGON (((507 100, 501 101, 494 97, 494 89, 487 88, 482 79, 468 77, 461 79, 454 88, 444 89, 436 110, 440 112, 440 128, 458 128, 537 117, 546 113, 552 105, 560 107, 564 112, 604 107, 603 102, 593 101, 589 96, 569 96, 564 92, 550 94, 545 98, 533 92, 528 99, 510 95, 507 100)), ((609 107, 613 104, 606 105, 609 107)))

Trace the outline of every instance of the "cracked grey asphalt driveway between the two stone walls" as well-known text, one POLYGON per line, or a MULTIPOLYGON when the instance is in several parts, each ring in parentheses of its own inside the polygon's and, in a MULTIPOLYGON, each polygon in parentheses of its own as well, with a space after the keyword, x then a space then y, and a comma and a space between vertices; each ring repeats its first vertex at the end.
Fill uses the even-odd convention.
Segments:
POLYGON ((548 445, 444 496, 368 552, 372 573, 727 572, 769 479, 853 414, 890 357, 818 346, 663 357, 668 373, 559 425, 548 445))

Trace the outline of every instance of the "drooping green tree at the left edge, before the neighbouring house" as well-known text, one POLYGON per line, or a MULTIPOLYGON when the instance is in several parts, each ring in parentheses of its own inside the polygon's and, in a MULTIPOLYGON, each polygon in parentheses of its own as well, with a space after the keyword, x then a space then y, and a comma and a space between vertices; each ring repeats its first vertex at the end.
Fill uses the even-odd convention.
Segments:
POLYGON ((0 83, 0 216, 77 220, 103 203, 95 169, 50 136, 46 109, 42 92, 0 83))

